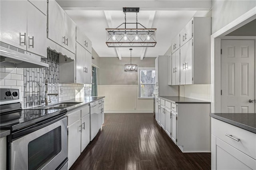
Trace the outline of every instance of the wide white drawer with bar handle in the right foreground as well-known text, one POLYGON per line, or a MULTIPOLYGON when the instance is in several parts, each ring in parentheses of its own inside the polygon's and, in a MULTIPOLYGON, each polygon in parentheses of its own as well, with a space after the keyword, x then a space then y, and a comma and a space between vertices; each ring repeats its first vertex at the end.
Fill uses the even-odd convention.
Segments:
POLYGON ((212 118, 212 135, 256 159, 256 134, 212 118), (225 134, 232 135, 236 141, 225 134))

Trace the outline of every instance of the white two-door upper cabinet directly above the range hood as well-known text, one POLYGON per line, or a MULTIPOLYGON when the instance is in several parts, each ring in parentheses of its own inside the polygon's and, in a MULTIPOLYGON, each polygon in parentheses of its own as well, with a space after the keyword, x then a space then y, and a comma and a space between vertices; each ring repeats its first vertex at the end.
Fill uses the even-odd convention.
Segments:
POLYGON ((46 57, 46 15, 28 1, 0 3, 1 42, 46 57))

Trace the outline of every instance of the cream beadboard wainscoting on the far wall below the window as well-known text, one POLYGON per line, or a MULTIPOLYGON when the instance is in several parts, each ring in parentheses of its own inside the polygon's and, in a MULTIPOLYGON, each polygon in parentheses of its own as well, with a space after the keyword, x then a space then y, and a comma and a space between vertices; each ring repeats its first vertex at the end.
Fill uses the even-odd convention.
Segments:
POLYGON ((153 112, 153 99, 138 99, 136 85, 98 85, 98 96, 106 97, 106 113, 153 112))

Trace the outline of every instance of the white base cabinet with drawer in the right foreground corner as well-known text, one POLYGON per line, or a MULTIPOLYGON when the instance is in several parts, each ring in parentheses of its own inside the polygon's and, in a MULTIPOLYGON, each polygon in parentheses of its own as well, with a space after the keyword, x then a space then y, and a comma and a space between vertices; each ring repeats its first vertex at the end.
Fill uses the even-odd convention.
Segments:
POLYGON ((212 170, 255 170, 256 134, 214 118, 211 120, 212 170))

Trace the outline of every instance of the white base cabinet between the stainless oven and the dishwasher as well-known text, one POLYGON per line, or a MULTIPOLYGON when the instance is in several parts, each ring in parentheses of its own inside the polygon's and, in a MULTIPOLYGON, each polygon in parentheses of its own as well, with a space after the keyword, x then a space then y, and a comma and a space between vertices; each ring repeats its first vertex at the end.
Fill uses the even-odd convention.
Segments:
POLYGON ((90 107, 68 112, 68 168, 90 142, 90 107))

